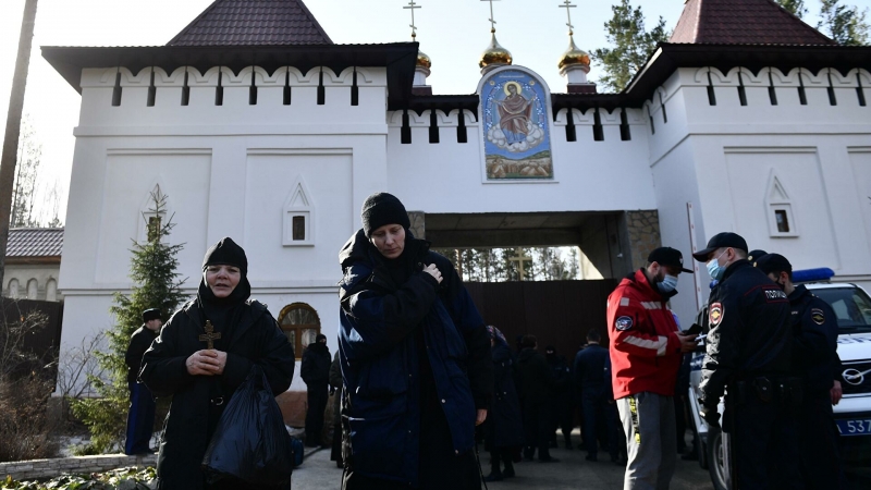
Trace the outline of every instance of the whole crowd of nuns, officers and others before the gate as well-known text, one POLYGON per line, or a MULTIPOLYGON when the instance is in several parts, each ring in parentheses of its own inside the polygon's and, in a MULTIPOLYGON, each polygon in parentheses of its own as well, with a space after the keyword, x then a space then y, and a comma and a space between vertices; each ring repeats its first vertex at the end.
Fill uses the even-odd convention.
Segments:
MULTIPOLYGON (((625 489, 667 489, 677 455, 696 457, 695 444, 686 449, 686 402, 700 327, 682 330, 668 307, 679 274, 692 272, 680 252, 657 248, 623 279, 609 296, 606 326, 590 326, 567 359, 554 346, 542 353, 531 334, 512 350, 498 327, 486 326, 451 261, 412 234, 395 196, 369 196, 361 222, 339 256, 338 352, 318 335, 300 366, 306 444, 329 445, 324 412, 334 395, 329 425, 343 489, 479 489, 481 479, 514 477, 515 463, 559 462, 550 450, 560 433, 563 448, 582 449, 590 463, 608 452, 625 467, 625 489), (490 455, 486 477, 481 440, 490 455)), ((831 308, 793 284, 785 257, 749 254, 734 233, 715 235, 694 257, 717 281, 700 415, 719 427, 728 393, 723 430, 735 448, 738 488, 844 488, 832 419, 839 360, 831 308)), ((194 299, 162 328, 158 310, 143 314, 126 356, 125 450, 154 451, 152 397, 172 395, 159 489, 262 488, 201 469, 226 404, 249 373, 262 373, 272 393, 285 391, 294 373, 286 335, 249 296, 247 257, 226 237, 207 252, 194 299)))

